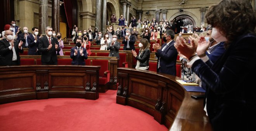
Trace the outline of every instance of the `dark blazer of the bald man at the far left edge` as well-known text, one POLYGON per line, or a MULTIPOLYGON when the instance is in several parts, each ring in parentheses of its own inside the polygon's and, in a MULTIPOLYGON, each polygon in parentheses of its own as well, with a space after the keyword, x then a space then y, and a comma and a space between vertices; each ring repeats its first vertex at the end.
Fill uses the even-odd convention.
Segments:
MULTIPOLYGON (((12 57, 13 51, 9 49, 9 41, 6 39, 0 40, 0 66, 8 66, 12 64, 12 57)), ((17 55, 17 62, 20 65, 20 57, 19 53, 23 53, 23 48, 19 49, 19 41, 14 40, 14 47, 16 55, 17 55)))

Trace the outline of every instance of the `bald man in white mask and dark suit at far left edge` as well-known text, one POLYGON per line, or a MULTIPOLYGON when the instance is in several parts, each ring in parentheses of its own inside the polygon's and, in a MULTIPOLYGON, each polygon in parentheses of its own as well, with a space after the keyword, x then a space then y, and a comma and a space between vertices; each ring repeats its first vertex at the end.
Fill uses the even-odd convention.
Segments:
POLYGON ((6 39, 0 40, 0 66, 20 65, 19 53, 23 53, 23 42, 18 43, 17 40, 14 40, 10 30, 5 30, 4 37, 6 39))

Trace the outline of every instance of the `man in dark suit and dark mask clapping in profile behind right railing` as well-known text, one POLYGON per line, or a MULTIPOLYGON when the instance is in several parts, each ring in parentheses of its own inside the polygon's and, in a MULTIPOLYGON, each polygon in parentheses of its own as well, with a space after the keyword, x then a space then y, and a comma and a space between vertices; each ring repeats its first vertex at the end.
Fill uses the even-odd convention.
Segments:
POLYGON ((156 50, 157 72, 176 76, 176 59, 178 52, 174 47, 174 32, 166 30, 164 32, 164 43, 162 48, 159 44, 153 44, 153 49, 156 50))

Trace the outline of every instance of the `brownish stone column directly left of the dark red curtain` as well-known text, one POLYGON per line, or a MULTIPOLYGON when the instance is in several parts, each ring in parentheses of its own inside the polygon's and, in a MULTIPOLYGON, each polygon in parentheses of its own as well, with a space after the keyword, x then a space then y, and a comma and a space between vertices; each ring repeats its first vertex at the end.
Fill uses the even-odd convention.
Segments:
POLYGON ((60 31, 60 0, 52 0, 52 30, 60 31))

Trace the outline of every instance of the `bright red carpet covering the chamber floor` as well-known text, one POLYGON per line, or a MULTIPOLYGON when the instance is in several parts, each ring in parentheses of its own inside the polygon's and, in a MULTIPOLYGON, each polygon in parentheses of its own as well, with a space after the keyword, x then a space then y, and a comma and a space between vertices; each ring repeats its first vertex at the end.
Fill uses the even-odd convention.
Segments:
POLYGON ((0 105, 0 131, 167 131, 152 116, 116 104, 116 91, 93 100, 57 98, 0 105))

